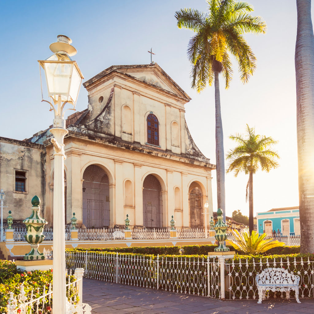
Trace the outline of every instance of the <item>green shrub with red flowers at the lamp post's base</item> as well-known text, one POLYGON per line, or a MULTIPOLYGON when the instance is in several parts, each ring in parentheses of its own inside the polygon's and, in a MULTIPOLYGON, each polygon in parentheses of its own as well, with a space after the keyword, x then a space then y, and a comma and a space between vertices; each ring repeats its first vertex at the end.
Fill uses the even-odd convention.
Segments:
MULTIPOLYGON (((75 280, 74 276, 70 276, 70 282, 75 280)), ((14 296, 17 296, 21 291, 21 284, 24 285, 27 300, 30 300, 32 290, 34 290, 33 298, 36 299, 43 294, 44 287, 45 293, 48 292, 49 283, 52 283, 51 269, 47 271, 35 270, 33 272, 23 272, 18 270, 12 261, 0 260, 0 313, 7 313, 6 306, 10 296, 9 293, 13 292, 14 296)), ((70 289, 69 299, 73 300, 75 288, 71 286, 70 289)), ((51 311, 47 297, 45 298, 44 309, 46 313, 50 313, 51 311)))

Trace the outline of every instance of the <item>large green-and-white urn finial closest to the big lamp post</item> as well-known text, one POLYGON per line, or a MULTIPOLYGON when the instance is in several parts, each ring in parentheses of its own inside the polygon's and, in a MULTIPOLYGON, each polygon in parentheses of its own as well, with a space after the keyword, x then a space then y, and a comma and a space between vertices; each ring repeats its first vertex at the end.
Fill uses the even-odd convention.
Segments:
POLYGON ((24 255, 24 260, 43 260, 45 255, 38 251, 38 247, 45 239, 42 232, 48 222, 40 215, 40 199, 37 195, 32 198, 32 205, 32 214, 22 221, 26 225, 27 231, 24 237, 31 247, 31 251, 24 255))

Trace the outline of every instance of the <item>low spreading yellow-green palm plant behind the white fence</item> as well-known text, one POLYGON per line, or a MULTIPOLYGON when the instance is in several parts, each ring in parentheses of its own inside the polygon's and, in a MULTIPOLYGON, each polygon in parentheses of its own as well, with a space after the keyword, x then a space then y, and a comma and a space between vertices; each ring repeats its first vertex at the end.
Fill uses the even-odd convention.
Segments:
POLYGON ((258 255, 260 253, 266 252, 269 249, 277 246, 284 246, 284 242, 279 242, 273 238, 264 240, 267 236, 266 233, 263 233, 261 236, 257 232, 252 230, 251 236, 248 232, 243 232, 240 234, 238 230, 231 231, 236 240, 229 240, 231 245, 239 251, 251 254, 258 255))

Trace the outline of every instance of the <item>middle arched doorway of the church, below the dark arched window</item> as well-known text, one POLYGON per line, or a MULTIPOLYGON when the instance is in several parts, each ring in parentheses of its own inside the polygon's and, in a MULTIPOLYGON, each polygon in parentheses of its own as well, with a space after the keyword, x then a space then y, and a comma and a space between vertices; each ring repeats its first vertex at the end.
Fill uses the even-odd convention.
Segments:
POLYGON ((149 228, 162 227, 161 185, 153 175, 143 182, 143 224, 149 228))

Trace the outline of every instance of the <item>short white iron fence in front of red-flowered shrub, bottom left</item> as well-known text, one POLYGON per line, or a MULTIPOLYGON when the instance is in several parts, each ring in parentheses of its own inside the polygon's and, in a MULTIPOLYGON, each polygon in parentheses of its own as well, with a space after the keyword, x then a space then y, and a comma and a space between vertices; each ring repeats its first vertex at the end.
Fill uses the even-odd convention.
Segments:
MULTIPOLYGON (((72 275, 72 270, 69 271, 69 275, 72 275)), ((77 280, 70 282, 70 276, 68 276, 68 284, 66 284, 66 314, 90 314, 91 307, 89 304, 82 303, 83 271, 75 269, 74 275, 77 280)), ((34 290, 31 290, 29 296, 24 290, 24 285, 21 284, 19 295, 14 296, 13 292, 10 292, 6 314, 50 313, 52 308, 51 298, 53 296, 51 283, 48 287, 46 285, 43 286, 43 292, 40 296, 34 297, 34 295, 34 290)))

